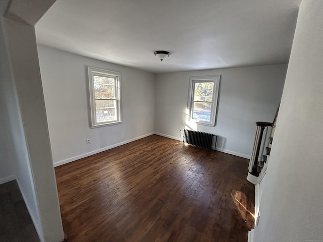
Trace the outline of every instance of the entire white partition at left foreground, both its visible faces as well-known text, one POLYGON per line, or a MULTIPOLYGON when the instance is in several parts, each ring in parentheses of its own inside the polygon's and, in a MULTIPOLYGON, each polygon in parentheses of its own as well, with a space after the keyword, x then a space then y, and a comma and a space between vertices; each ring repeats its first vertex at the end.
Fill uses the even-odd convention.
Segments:
MULTIPOLYGON (((12 178, 17 178, 40 240, 60 242, 64 239, 64 234, 51 160, 34 27, 4 18, 8 2, 0 3, 0 120, 3 129, 0 132, 0 168, 5 169, 5 175, 12 174, 12 178)), ((24 4, 19 1, 15 3, 24 4)), ((38 2, 33 4, 39 5, 38 2)), ((41 16, 43 13, 37 14, 41 16)))

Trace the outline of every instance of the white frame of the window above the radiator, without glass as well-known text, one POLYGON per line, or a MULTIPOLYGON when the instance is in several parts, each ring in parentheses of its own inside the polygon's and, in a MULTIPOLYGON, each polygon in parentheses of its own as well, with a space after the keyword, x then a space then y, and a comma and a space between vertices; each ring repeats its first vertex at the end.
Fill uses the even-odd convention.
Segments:
POLYGON ((219 96, 219 86, 220 86, 220 75, 212 75, 212 76, 198 76, 198 77, 190 77, 190 86, 189 86, 189 93, 188 93, 188 102, 187 102, 187 110, 188 115, 187 118, 190 122, 199 125, 206 125, 206 126, 216 126, 216 116, 217 116, 217 109, 218 109, 218 96, 219 96), (211 104, 211 115, 210 121, 198 121, 194 120, 193 117, 193 107, 194 107, 194 87, 195 83, 200 82, 213 82, 213 96, 212 96, 212 104, 211 104))

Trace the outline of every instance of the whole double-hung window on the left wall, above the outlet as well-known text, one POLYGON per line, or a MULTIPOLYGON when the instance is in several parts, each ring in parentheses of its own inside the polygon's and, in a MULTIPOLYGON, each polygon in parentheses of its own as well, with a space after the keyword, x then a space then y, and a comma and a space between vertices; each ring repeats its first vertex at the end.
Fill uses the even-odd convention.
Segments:
POLYGON ((122 123, 119 72, 88 67, 91 128, 122 123))

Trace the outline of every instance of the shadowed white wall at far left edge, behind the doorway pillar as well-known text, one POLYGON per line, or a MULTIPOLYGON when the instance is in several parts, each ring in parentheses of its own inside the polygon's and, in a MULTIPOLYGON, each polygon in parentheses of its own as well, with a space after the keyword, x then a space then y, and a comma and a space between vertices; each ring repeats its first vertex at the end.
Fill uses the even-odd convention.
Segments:
MULTIPOLYGON (((8 1, 2 1, 1 10, 7 9, 8 1)), ((37 207, 37 200, 31 173, 28 150, 23 130, 23 124, 18 103, 17 90, 14 82, 14 75, 10 62, 10 51, 8 48, 7 26, 5 24, 4 12, 1 13, 0 30, 0 75, 1 75, 1 162, 0 168, 6 177, 3 181, 17 179, 20 191, 25 204, 34 221, 39 227, 40 218, 37 207), (9 176, 8 176, 9 175, 9 176)), ((2 173, 3 174, 3 173, 2 173)), ((41 234, 41 230, 38 229, 41 234)))

